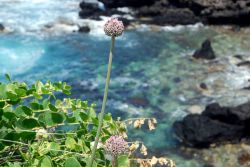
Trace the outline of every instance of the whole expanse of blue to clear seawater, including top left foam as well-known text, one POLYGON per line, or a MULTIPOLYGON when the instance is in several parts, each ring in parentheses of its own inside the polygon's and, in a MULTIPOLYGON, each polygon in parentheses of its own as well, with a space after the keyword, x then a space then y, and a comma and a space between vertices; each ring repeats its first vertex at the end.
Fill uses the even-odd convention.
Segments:
MULTIPOLYGON (((0 34, 0 79, 10 73, 29 83, 67 81, 73 86, 73 97, 97 103, 99 111, 110 39, 101 34, 48 33, 43 29, 58 19, 77 21, 77 5, 78 0, 1 1, 0 21, 14 32, 0 34)), ((236 105, 249 99, 240 91, 249 86, 249 69, 238 68, 238 60, 232 56, 242 54, 249 59, 250 36, 203 26, 163 29, 126 31, 118 38, 108 111, 123 119, 156 117, 156 131, 131 130, 129 136, 144 141, 157 155, 169 155, 178 167, 199 167, 199 161, 175 154, 178 143, 172 123, 192 105, 202 108, 214 101, 236 105), (190 55, 207 38, 218 59, 210 63, 193 60, 190 55), (208 92, 197 88, 201 82, 208 85, 208 92)))

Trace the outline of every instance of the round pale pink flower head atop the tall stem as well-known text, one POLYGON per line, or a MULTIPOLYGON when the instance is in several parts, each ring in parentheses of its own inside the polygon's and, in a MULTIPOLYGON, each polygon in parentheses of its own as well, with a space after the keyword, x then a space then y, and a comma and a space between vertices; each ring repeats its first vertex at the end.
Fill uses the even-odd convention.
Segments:
POLYGON ((123 31, 124 25, 122 21, 119 21, 117 18, 108 20, 104 25, 105 34, 111 37, 118 37, 122 35, 123 31))

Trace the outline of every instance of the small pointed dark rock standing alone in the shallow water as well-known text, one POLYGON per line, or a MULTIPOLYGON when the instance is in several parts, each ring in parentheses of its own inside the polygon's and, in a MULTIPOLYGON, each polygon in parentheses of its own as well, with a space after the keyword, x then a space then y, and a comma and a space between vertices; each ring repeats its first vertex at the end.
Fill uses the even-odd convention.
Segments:
POLYGON ((208 59, 208 60, 215 59, 216 56, 211 46, 210 40, 207 39, 206 41, 204 41, 202 43, 201 48, 195 51, 195 53, 193 54, 193 57, 196 59, 199 59, 199 58, 208 59))

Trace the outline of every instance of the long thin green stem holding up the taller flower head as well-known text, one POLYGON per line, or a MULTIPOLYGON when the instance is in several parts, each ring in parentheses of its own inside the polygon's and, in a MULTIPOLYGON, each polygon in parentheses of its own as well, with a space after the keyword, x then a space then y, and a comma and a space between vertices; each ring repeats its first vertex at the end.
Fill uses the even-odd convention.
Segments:
POLYGON ((107 98, 108 98, 108 90, 109 90, 109 83, 110 83, 110 74, 111 74, 111 68, 112 68, 112 58, 113 58, 114 46, 115 46, 115 37, 113 36, 112 40, 111 40, 111 46, 110 46, 110 52, 109 52, 109 64, 108 64, 108 72, 107 72, 107 78, 106 78, 105 91, 104 91, 104 96, 103 96, 103 101, 102 101, 102 110, 101 110, 101 113, 99 115, 99 125, 98 125, 98 129, 97 129, 97 133, 96 133, 94 147, 92 149, 91 157, 88 161, 87 167, 92 167, 92 164, 93 164, 94 159, 95 159, 95 152, 97 149, 97 145, 98 145, 101 130, 102 130, 103 117, 104 117, 105 107, 106 107, 107 98))

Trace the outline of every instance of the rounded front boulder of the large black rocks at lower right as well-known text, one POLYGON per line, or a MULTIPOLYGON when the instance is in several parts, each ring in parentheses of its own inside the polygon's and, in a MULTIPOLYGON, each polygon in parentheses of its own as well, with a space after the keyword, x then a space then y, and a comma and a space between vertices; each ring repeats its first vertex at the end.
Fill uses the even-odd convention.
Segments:
POLYGON ((243 126, 230 125, 203 115, 188 115, 175 122, 174 130, 181 141, 192 147, 209 147, 212 143, 235 141, 243 136, 243 126))

